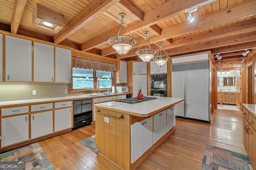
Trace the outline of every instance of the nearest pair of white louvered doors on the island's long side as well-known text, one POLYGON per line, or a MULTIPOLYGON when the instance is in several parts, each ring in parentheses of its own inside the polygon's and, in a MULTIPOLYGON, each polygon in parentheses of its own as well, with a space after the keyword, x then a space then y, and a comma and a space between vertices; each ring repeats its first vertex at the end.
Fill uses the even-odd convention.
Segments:
POLYGON ((153 117, 131 125, 132 164, 153 145, 153 117))

